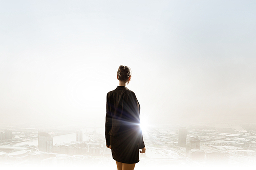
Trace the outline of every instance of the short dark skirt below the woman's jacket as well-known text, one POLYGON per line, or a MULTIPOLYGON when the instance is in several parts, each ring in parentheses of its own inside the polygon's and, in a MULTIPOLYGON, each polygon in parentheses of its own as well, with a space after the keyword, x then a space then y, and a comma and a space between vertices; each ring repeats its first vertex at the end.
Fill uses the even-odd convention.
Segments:
POLYGON ((136 136, 118 135, 110 136, 112 157, 122 163, 139 162, 139 147, 136 136))

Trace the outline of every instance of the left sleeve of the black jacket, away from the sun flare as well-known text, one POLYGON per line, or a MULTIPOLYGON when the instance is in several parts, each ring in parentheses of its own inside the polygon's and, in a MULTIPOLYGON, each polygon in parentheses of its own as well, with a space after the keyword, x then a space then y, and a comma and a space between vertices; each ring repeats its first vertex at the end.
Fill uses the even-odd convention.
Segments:
POLYGON ((112 116, 110 109, 110 100, 108 99, 108 95, 106 96, 106 120, 105 120, 105 139, 106 145, 110 145, 110 135, 109 132, 112 128, 112 116))

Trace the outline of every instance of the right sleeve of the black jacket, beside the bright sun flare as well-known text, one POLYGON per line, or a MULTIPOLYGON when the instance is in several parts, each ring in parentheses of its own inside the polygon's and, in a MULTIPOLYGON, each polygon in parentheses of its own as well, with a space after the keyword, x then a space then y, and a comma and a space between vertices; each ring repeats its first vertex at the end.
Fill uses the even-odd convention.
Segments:
POLYGON ((137 135, 137 145, 139 149, 142 149, 145 147, 144 141, 143 141, 143 135, 142 135, 142 131, 140 128, 140 104, 136 98, 136 95, 134 92, 131 92, 129 95, 129 99, 128 99, 129 103, 131 103, 132 107, 132 113, 133 113, 133 122, 135 123, 135 125, 137 126, 136 129, 136 135, 137 135))

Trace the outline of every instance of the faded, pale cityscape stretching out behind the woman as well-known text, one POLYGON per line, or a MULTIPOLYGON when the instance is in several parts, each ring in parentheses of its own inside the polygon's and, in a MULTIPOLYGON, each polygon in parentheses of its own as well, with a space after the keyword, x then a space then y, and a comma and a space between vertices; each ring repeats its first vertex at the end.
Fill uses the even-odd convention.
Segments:
MULTIPOLYGON (((104 127, 1 126, 0 134, 1 166, 115 168, 104 127)), ((148 126, 143 137, 146 153, 136 167, 256 164, 256 124, 148 126)))

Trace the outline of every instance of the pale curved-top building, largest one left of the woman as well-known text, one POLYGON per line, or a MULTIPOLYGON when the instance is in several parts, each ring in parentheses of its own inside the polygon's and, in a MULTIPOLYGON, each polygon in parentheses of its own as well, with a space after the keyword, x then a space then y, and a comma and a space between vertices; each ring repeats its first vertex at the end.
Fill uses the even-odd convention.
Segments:
POLYGON ((38 132, 38 149, 44 152, 53 152, 53 138, 46 132, 38 132))

